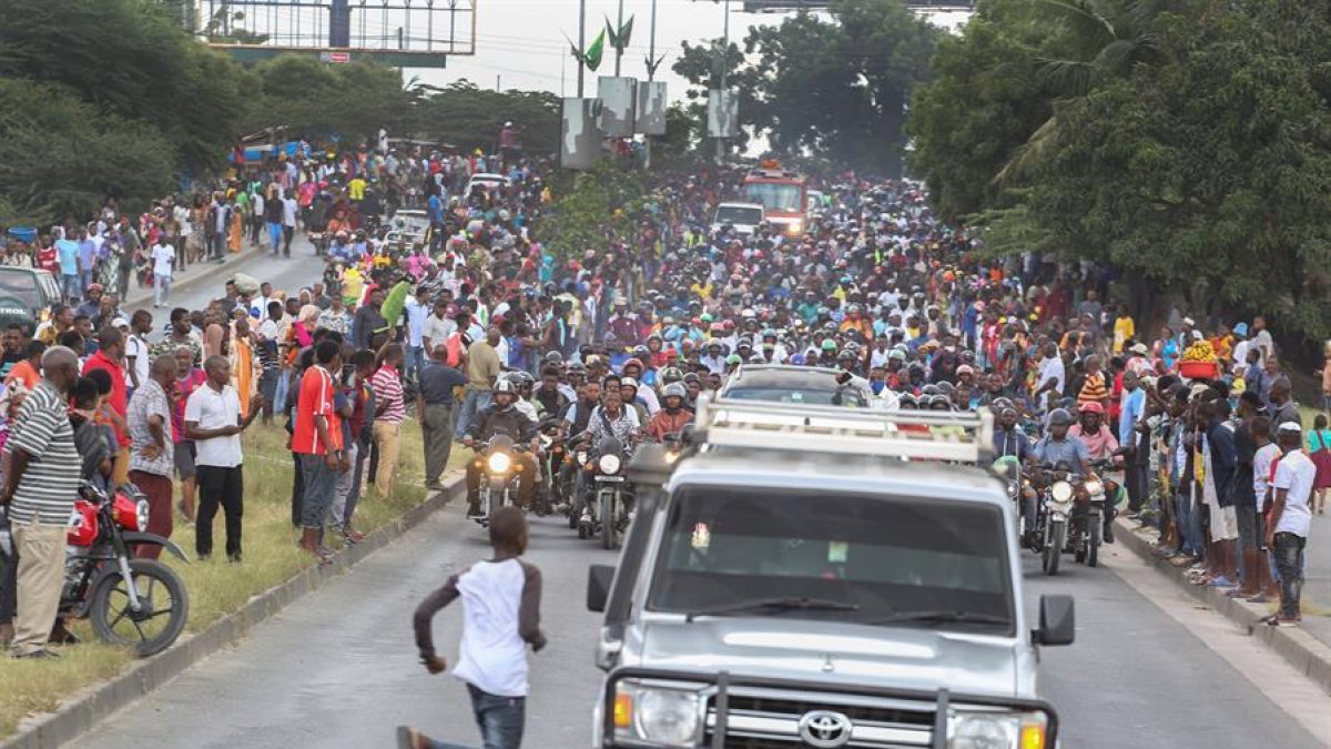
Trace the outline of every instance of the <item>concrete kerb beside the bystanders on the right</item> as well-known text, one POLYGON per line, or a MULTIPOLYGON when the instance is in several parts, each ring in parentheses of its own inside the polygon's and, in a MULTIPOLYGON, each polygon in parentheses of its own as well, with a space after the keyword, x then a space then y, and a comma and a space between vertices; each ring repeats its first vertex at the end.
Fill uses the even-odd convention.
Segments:
POLYGON ((1179 589, 1205 604, 1206 608, 1239 625, 1256 641, 1278 653, 1299 673, 1312 680, 1323 692, 1331 694, 1331 646, 1298 626, 1262 624, 1259 620, 1268 612, 1260 604, 1230 598, 1223 589, 1189 582, 1182 569, 1153 553, 1151 545, 1158 537, 1155 529, 1135 528, 1126 520, 1115 520, 1114 525, 1117 526, 1114 537, 1147 566, 1155 568, 1173 580, 1179 589))

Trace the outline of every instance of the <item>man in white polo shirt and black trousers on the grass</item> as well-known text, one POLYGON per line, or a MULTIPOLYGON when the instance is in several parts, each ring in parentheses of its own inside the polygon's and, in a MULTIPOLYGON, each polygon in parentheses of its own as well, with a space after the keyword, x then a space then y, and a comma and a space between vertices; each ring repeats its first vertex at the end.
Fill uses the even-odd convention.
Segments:
POLYGON ((241 561, 241 514, 245 481, 241 473, 241 430, 264 412, 258 393, 249 418, 241 418, 241 398, 230 385, 232 365, 225 356, 204 363, 208 381, 185 401, 185 437, 194 440, 194 476, 198 481, 198 513, 194 518, 194 552, 205 560, 213 553, 213 517, 226 513, 226 558, 241 561))

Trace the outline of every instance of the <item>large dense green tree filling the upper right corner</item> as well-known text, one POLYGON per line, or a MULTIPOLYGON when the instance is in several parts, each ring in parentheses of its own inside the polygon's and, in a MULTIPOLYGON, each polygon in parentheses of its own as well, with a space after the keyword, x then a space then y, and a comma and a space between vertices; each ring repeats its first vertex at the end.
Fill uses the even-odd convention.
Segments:
POLYGON ((914 167, 992 252, 1113 263, 1134 303, 1331 332, 1331 16, 993 0, 912 105, 914 167))

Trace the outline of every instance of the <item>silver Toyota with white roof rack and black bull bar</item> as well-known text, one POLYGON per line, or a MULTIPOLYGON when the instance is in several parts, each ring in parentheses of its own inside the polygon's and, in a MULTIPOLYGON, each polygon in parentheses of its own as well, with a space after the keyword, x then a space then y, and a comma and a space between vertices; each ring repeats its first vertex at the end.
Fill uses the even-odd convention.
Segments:
POLYGON ((1017 517, 988 412, 703 396, 689 448, 642 445, 603 612, 600 748, 1055 746, 1017 517))

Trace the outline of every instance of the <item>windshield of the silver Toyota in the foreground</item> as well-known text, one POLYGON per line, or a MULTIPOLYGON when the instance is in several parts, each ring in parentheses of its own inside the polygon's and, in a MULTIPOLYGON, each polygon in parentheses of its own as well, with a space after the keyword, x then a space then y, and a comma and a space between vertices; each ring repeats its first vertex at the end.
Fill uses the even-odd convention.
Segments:
POLYGON ((1014 622, 996 506, 737 486, 675 494, 648 608, 993 634, 1014 622))

